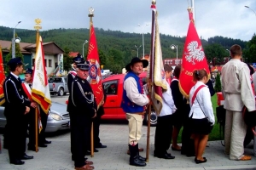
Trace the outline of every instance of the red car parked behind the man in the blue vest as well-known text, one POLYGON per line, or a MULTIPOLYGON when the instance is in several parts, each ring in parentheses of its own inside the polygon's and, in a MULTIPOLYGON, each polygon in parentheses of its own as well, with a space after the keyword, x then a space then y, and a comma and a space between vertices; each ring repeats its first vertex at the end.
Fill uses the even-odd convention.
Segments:
MULTIPOLYGON (((143 72, 139 77, 143 78, 143 84, 146 83, 147 72, 143 72)), ((125 120, 125 112, 120 107, 123 96, 123 82, 125 74, 113 75, 102 80, 103 88, 107 94, 106 102, 103 106, 105 114, 102 119, 119 119, 125 120)), ((144 123, 148 122, 148 111, 144 116, 144 123)), ((157 116, 152 107, 150 113, 150 124, 155 126, 157 123, 157 116)))

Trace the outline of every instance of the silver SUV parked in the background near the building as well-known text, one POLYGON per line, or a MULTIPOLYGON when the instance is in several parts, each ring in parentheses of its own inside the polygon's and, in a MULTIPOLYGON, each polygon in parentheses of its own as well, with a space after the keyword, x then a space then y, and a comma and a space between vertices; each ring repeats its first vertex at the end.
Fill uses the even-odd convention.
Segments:
POLYGON ((63 96, 68 93, 67 77, 49 77, 49 93, 63 96))

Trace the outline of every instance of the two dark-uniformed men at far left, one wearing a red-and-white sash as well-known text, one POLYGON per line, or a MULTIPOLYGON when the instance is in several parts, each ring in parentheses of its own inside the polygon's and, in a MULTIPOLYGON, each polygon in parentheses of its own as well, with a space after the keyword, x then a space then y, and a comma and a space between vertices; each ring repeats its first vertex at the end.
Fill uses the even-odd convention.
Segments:
POLYGON ((20 58, 10 59, 9 76, 3 82, 4 92, 4 116, 6 126, 4 128, 3 148, 9 151, 9 162, 15 165, 22 165, 25 161, 33 159, 33 156, 26 155, 26 137, 29 142, 27 150, 36 150, 36 136, 38 146, 47 147, 51 141, 45 139, 45 128, 47 126, 48 113, 45 113, 40 105, 32 100, 32 69, 25 72, 25 82, 21 82, 19 75, 23 73, 23 63, 20 58), (36 109, 38 112, 36 112, 36 109), (41 117, 43 128, 36 135, 35 114, 41 117), (27 134, 27 131, 29 133, 27 134))

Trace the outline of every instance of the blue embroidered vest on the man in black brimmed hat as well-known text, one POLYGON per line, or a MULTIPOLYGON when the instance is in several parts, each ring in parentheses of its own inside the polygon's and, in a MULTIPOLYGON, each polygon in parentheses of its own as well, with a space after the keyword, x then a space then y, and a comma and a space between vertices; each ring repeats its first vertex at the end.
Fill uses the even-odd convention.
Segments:
MULTIPOLYGON (((137 89, 140 94, 142 94, 142 87, 140 85, 140 77, 138 77, 134 72, 130 71, 126 74, 124 82, 127 78, 133 77, 137 82, 137 89)), ((143 106, 136 105, 135 103, 131 102, 131 100, 127 97, 125 89, 123 90, 123 98, 121 103, 121 108, 126 113, 137 113, 144 111, 143 106)))

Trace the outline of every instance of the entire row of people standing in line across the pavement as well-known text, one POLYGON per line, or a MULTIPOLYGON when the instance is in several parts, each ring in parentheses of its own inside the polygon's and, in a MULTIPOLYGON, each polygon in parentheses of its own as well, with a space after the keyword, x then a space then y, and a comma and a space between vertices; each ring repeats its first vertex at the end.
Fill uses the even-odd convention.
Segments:
MULTIPOLYGON (((255 110, 255 99, 250 80, 248 66, 241 62, 241 47, 233 45, 230 48, 230 61, 222 69, 222 91, 224 94, 225 122, 225 154, 230 160, 250 160, 251 156, 244 155, 243 140, 247 126, 241 114, 245 105, 248 111, 255 110)), ((43 130, 39 133, 39 147, 50 144, 44 136, 47 114, 41 111, 39 105, 31 99, 32 70, 27 69, 25 81, 21 82, 19 75, 23 71, 20 58, 9 60, 9 76, 3 83, 7 124, 4 133, 4 146, 9 150, 9 161, 15 165, 24 164, 24 161, 33 156, 26 155, 26 131, 29 126, 28 150, 35 150, 35 109, 38 108, 43 130), (14 107, 15 105, 15 107, 14 107)), ((149 84, 143 85, 139 75, 143 68, 148 66, 148 60, 133 58, 125 66, 127 71, 124 79, 124 91, 121 108, 126 113, 129 125, 130 165, 144 167, 146 158, 139 154, 139 140, 142 136, 143 116, 148 109, 149 84)), ((67 77, 69 98, 67 111, 70 114, 71 152, 75 169, 94 169, 92 161, 87 161, 90 155, 90 130, 94 122, 94 151, 96 148, 106 148, 99 138, 101 116, 104 113, 102 106, 97 107, 96 99, 90 83, 90 63, 81 55, 73 58, 73 71, 67 77)), ((172 66, 164 65, 166 79, 172 76, 172 66)), ((190 89, 189 99, 185 99, 178 88, 181 66, 177 65, 173 71, 171 84, 167 81, 166 91, 162 94, 162 109, 158 116, 154 136, 154 156, 164 159, 174 159, 168 153, 172 143, 172 150, 181 151, 186 156, 195 156, 195 163, 207 162, 203 156, 207 146, 209 133, 215 123, 212 110, 211 96, 214 94, 212 82, 204 69, 193 71, 195 86, 190 89), (177 144, 178 133, 183 127, 182 146, 177 144)), ((104 91, 104 90, 103 90, 104 91)), ((103 92, 104 93, 104 92, 103 92)), ((106 95, 104 95, 106 99, 106 95)))

